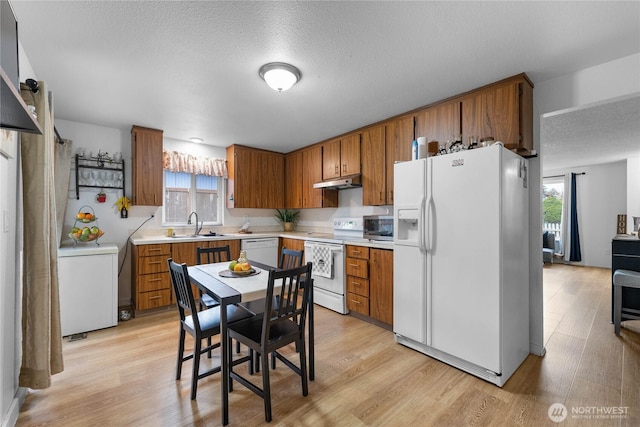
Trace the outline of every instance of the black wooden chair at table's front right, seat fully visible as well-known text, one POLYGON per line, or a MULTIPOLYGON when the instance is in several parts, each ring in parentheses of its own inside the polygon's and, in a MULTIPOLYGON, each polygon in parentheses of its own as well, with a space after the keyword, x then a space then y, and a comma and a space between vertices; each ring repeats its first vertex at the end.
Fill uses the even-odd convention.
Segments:
POLYGON ((307 319, 311 286, 304 286, 303 280, 311 277, 311 263, 289 270, 270 270, 262 314, 234 322, 228 327, 229 338, 235 339, 262 356, 262 388, 242 377, 230 366, 231 380, 236 380, 264 400, 264 417, 271 421, 271 386, 266 355, 273 353, 302 380, 302 395, 307 396, 308 376, 305 344, 305 322, 307 319), (276 288, 279 288, 276 290, 276 288), (277 306, 274 301, 278 301, 277 306), (278 352, 284 346, 295 343, 300 356, 299 366, 278 352))

